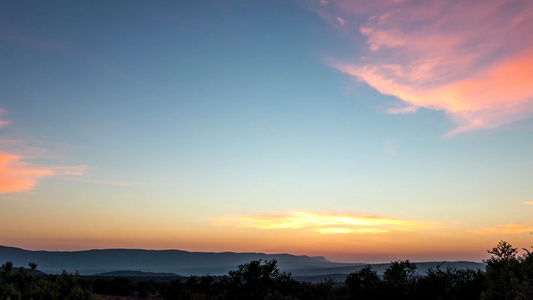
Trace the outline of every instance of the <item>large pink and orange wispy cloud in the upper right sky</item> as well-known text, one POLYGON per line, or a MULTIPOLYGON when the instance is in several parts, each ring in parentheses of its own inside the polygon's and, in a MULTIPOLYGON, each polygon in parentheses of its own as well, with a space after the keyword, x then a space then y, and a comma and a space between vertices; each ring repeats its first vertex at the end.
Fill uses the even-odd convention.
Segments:
POLYGON ((448 135, 533 115, 532 1, 331 0, 319 10, 358 24, 342 30, 366 37, 366 53, 330 64, 401 99, 390 113, 443 110, 457 124, 448 135))

